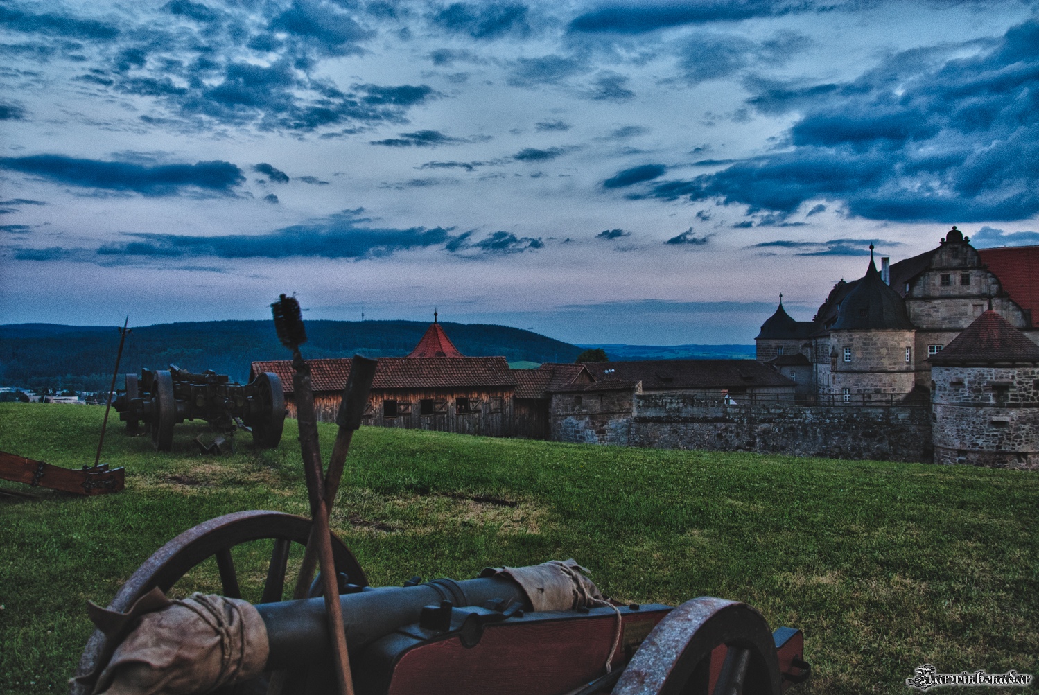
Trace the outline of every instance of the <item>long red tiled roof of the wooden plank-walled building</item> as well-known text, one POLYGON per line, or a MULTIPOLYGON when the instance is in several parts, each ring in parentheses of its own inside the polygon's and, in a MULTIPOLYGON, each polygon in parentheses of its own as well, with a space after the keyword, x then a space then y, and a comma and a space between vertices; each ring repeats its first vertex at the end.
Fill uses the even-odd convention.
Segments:
MULTIPOLYGON (((346 357, 308 359, 315 393, 338 393, 350 376, 346 357)), ((292 394, 292 362, 255 362, 249 379, 274 372, 286 394, 292 394)), ((452 389, 457 386, 514 386, 516 378, 505 357, 380 357, 372 389, 452 389)))

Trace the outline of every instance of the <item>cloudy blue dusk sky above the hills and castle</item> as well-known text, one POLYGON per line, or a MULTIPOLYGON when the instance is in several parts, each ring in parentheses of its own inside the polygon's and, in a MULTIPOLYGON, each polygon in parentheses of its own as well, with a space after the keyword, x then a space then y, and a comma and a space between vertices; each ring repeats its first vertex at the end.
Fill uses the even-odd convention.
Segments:
POLYGON ((750 343, 868 246, 1039 243, 1039 3, 0 5, 0 323, 750 343))

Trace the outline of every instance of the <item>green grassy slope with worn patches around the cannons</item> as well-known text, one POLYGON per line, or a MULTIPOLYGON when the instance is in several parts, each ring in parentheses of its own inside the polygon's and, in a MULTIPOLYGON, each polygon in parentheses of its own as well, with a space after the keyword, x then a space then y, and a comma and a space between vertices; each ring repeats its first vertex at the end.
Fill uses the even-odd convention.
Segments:
MULTIPOLYGON (((101 416, 2 404, 0 449, 78 466, 101 416)), ((63 690, 90 632, 84 602, 107 603, 181 531, 241 509, 304 511, 293 421, 276 451, 243 434, 223 458, 192 451, 201 431, 179 426, 158 454, 114 429, 103 460, 127 466, 119 494, 0 499, 0 691, 63 690)), ((327 455, 334 428, 322 435, 327 455)), ((818 672, 803 693, 902 693, 923 663, 1039 674, 1034 473, 376 428, 349 463, 334 526, 374 585, 575 557, 616 597, 711 594, 802 627, 818 672)), ((254 590, 264 553, 238 560, 254 590)), ((209 568, 185 590, 215 586, 209 568)))

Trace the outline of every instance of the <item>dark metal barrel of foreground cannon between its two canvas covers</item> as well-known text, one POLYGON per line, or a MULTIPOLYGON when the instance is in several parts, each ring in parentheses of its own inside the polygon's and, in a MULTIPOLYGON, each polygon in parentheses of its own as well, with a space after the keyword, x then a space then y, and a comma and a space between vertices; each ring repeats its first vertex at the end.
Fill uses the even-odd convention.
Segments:
MULTIPOLYGON (((406 587, 366 587, 357 593, 343 594, 339 599, 350 651, 398 627, 418 622, 424 606, 436 606, 443 600, 462 607, 482 606, 496 599, 504 600, 506 606, 520 602, 528 610, 530 608, 524 590, 505 577, 461 582, 438 579, 406 587)), ((268 670, 327 661, 329 639, 323 598, 259 604, 256 608, 267 627, 268 670)))

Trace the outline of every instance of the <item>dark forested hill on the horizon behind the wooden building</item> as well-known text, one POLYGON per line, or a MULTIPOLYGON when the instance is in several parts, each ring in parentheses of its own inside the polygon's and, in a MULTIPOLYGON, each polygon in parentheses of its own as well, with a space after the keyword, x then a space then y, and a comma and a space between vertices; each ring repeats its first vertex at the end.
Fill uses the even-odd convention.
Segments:
MULTIPOLYGON (((574 362, 581 348, 529 330, 489 324, 442 323, 462 354, 504 355, 509 362, 574 362)), ((428 322, 308 321, 304 357, 400 356, 411 351, 428 322)), ((108 387, 119 333, 115 327, 46 323, 0 325, 0 385, 32 389, 108 387)), ((249 363, 290 358, 272 321, 197 321, 133 327, 119 372, 141 367, 212 369, 248 378, 249 363)))

